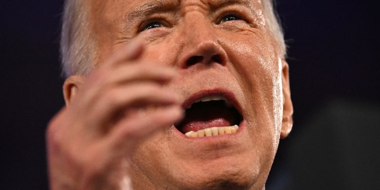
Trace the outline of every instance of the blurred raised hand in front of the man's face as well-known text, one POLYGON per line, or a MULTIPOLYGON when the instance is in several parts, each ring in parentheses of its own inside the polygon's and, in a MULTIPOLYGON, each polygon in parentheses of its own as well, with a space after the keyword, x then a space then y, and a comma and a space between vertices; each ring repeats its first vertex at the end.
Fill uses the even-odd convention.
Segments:
POLYGON ((48 126, 51 189, 120 189, 138 143, 181 119, 177 94, 165 88, 175 71, 143 63, 143 49, 135 40, 66 80, 77 90, 48 126))

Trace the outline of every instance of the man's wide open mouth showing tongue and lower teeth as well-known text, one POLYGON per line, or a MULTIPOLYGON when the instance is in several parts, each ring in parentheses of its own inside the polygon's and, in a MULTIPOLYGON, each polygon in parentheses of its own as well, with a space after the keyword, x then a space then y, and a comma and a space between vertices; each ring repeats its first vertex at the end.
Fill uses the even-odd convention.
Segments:
POLYGON ((188 137, 233 134, 239 130, 242 116, 223 95, 203 96, 184 106, 185 117, 175 127, 188 137))

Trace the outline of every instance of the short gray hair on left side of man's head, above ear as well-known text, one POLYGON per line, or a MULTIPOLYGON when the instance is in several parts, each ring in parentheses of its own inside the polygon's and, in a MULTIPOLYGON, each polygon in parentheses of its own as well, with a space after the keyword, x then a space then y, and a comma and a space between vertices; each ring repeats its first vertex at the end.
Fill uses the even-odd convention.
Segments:
POLYGON ((96 60, 96 41, 85 1, 66 0, 61 32, 62 74, 88 74, 96 60))

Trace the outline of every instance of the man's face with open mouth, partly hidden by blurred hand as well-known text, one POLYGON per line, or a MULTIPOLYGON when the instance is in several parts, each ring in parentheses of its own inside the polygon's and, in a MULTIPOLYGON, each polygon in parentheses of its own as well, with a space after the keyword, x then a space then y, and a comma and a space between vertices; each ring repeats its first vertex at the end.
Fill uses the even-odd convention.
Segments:
POLYGON ((283 67, 260 3, 99 0, 88 7, 99 62, 142 37, 144 62, 178 72, 168 88, 180 95, 186 116, 138 146, 131 159, 134 185, 263 186, 280 138, 283 67), (224 100, 206 101, 211 97, 224 100), (235 134, 184 135, 235 124, 235 134))

